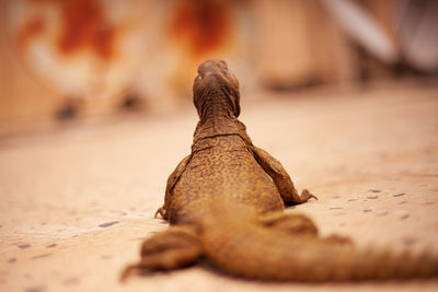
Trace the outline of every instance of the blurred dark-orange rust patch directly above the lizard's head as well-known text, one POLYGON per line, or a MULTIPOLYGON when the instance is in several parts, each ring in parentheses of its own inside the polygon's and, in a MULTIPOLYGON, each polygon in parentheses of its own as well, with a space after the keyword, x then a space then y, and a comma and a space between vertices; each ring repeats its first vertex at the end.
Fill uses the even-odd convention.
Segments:
POLYGON ((203 57, 226 43, 231 28, 230 7, 228 1, 183 0, 174 10, 170 34, 193 57, 203 57))

